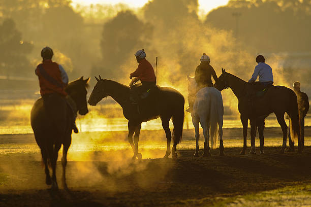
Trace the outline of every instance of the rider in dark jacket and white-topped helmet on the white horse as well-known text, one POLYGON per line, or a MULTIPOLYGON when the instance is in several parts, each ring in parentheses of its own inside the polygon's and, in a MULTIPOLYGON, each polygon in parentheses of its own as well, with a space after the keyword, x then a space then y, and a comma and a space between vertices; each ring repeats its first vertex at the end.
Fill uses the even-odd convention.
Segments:
MULTIPOLYGON (((201 88, 204 87, 213 87, 211 77, 213 77, 215 82, 218 81, 214 68, 209 64, 210 58, 205 53, 203 53, 200 60, 201 63, 200 65, 197 66, 195 73, 195 80, 197 82, 197 91, 199 91, 201 88)), ((189 107, 188 109, 186 109, 186 112, 191 113, 193 109, 195 95, 196 94, 189 94, 188 96, 189 107)))

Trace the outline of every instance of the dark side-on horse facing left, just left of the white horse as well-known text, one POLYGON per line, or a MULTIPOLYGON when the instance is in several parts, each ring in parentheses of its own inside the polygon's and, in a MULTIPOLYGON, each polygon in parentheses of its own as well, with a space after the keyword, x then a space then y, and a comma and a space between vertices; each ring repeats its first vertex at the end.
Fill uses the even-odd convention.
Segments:
MULTIPOLYGON (((96 78, 96 77, 95 77, 96 78)), ((138 141, 141 123, 151 119, 161 118, 163 129, 167 138, 167 150, 164 158, 168 158, 171 154, 170 145, 171 137, 174 145, 172 147, 172 157, 177 158, 176 146, 181 141, 182 127, 184 120, 184 98, 175 89, 161 87, 159 90, 153 91, 145 100, 141 100, 139 112, 137 105, 133 105, 130 101, 131 89, 129 86, 117 83, 115 81, 97 79, 97 84, 89 96, 88 103, 96 106, 97 103, 108 95, 111 96, 123 109, 123 115, 129 120, 128 139, 134 152, 133 159, 141 159, 142 155, 138 153, 138 141), (172 118, 174 129, 173 134, 169 127, 169 121, 172 118), (133 134, 134 142, 133 142, 133 134)))

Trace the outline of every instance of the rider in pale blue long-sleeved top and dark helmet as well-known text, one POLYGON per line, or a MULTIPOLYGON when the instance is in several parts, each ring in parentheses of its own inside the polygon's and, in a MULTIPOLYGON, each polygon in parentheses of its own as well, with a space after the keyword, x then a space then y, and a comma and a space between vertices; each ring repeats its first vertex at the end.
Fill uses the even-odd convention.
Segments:
POLYGON ((273 84, 272 68, 265 63, 265 58, 262 55, 256 57, 257 65, 255 66, 252 78, 248 80, 247 94, 250 96, 253 91, 262 91, 269 88, 273 84), (256 82, 259 76, 259 81, 256 82))

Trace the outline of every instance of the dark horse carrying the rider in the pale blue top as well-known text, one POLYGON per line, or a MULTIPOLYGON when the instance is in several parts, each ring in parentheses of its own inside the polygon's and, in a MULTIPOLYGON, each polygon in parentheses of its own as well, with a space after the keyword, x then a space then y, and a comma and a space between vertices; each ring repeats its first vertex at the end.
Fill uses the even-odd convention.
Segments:
POLYGON ((263 97, 256 98, 256 101, 250 102, 245 93, 247 89, 247 82, 230 73, 227 73, 224 68, 222 68, 222 75, 219 77, 219 82, 215 84, 215 87, 219 90, 228 89, 230 87, 238 99, 238 110, 240 112, 240 119, 243 125, 243 149, 240 154, 245 154, 245 150, 247 148, 246 136, 248 119, 250 119, 251 123, 250 154, 256 154, 256 127, 260 126, 259 132, 260 134, 262 134, 261 144, 263 144, 264 119, 271 113, 275 114, 277 122, 279 123, 283 131, 283 145, 280 153, 284 153, 286 149, 288 128, 284 120, 285 112, 289 115, 291 119, 291 136, 294 138, 295 141, 298 140, 298 153, 302 152, 297 96, 293 90, 285 86, 272 86, 267 89, 263 97), (260 120, 260 125, 257 124, 258 120, 260 120))

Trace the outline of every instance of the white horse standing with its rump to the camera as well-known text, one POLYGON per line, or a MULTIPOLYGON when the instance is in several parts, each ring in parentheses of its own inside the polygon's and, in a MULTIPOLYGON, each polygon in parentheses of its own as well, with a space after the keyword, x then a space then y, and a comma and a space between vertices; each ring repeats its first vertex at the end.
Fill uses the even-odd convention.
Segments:
POLYGON ((197 92, 197 83, 193 77, 187 76, 189 97, 194 98, 193 110, 191 112, 192 123, 196 131, 196 152, 194 157, 199 157, 199 122, 203 128, 204 134, 204 152, 203 157, 210 156, 209 137, 211 136, 211 148, 216 147, 217 128, 220 137, 219 150, 220 156, 224 156, 223 144, 223 116, 224 105, 223 97, 219 90, 214 87, 205 87, 197 92), (209 136, 210 134, 210 136, 209 136))

